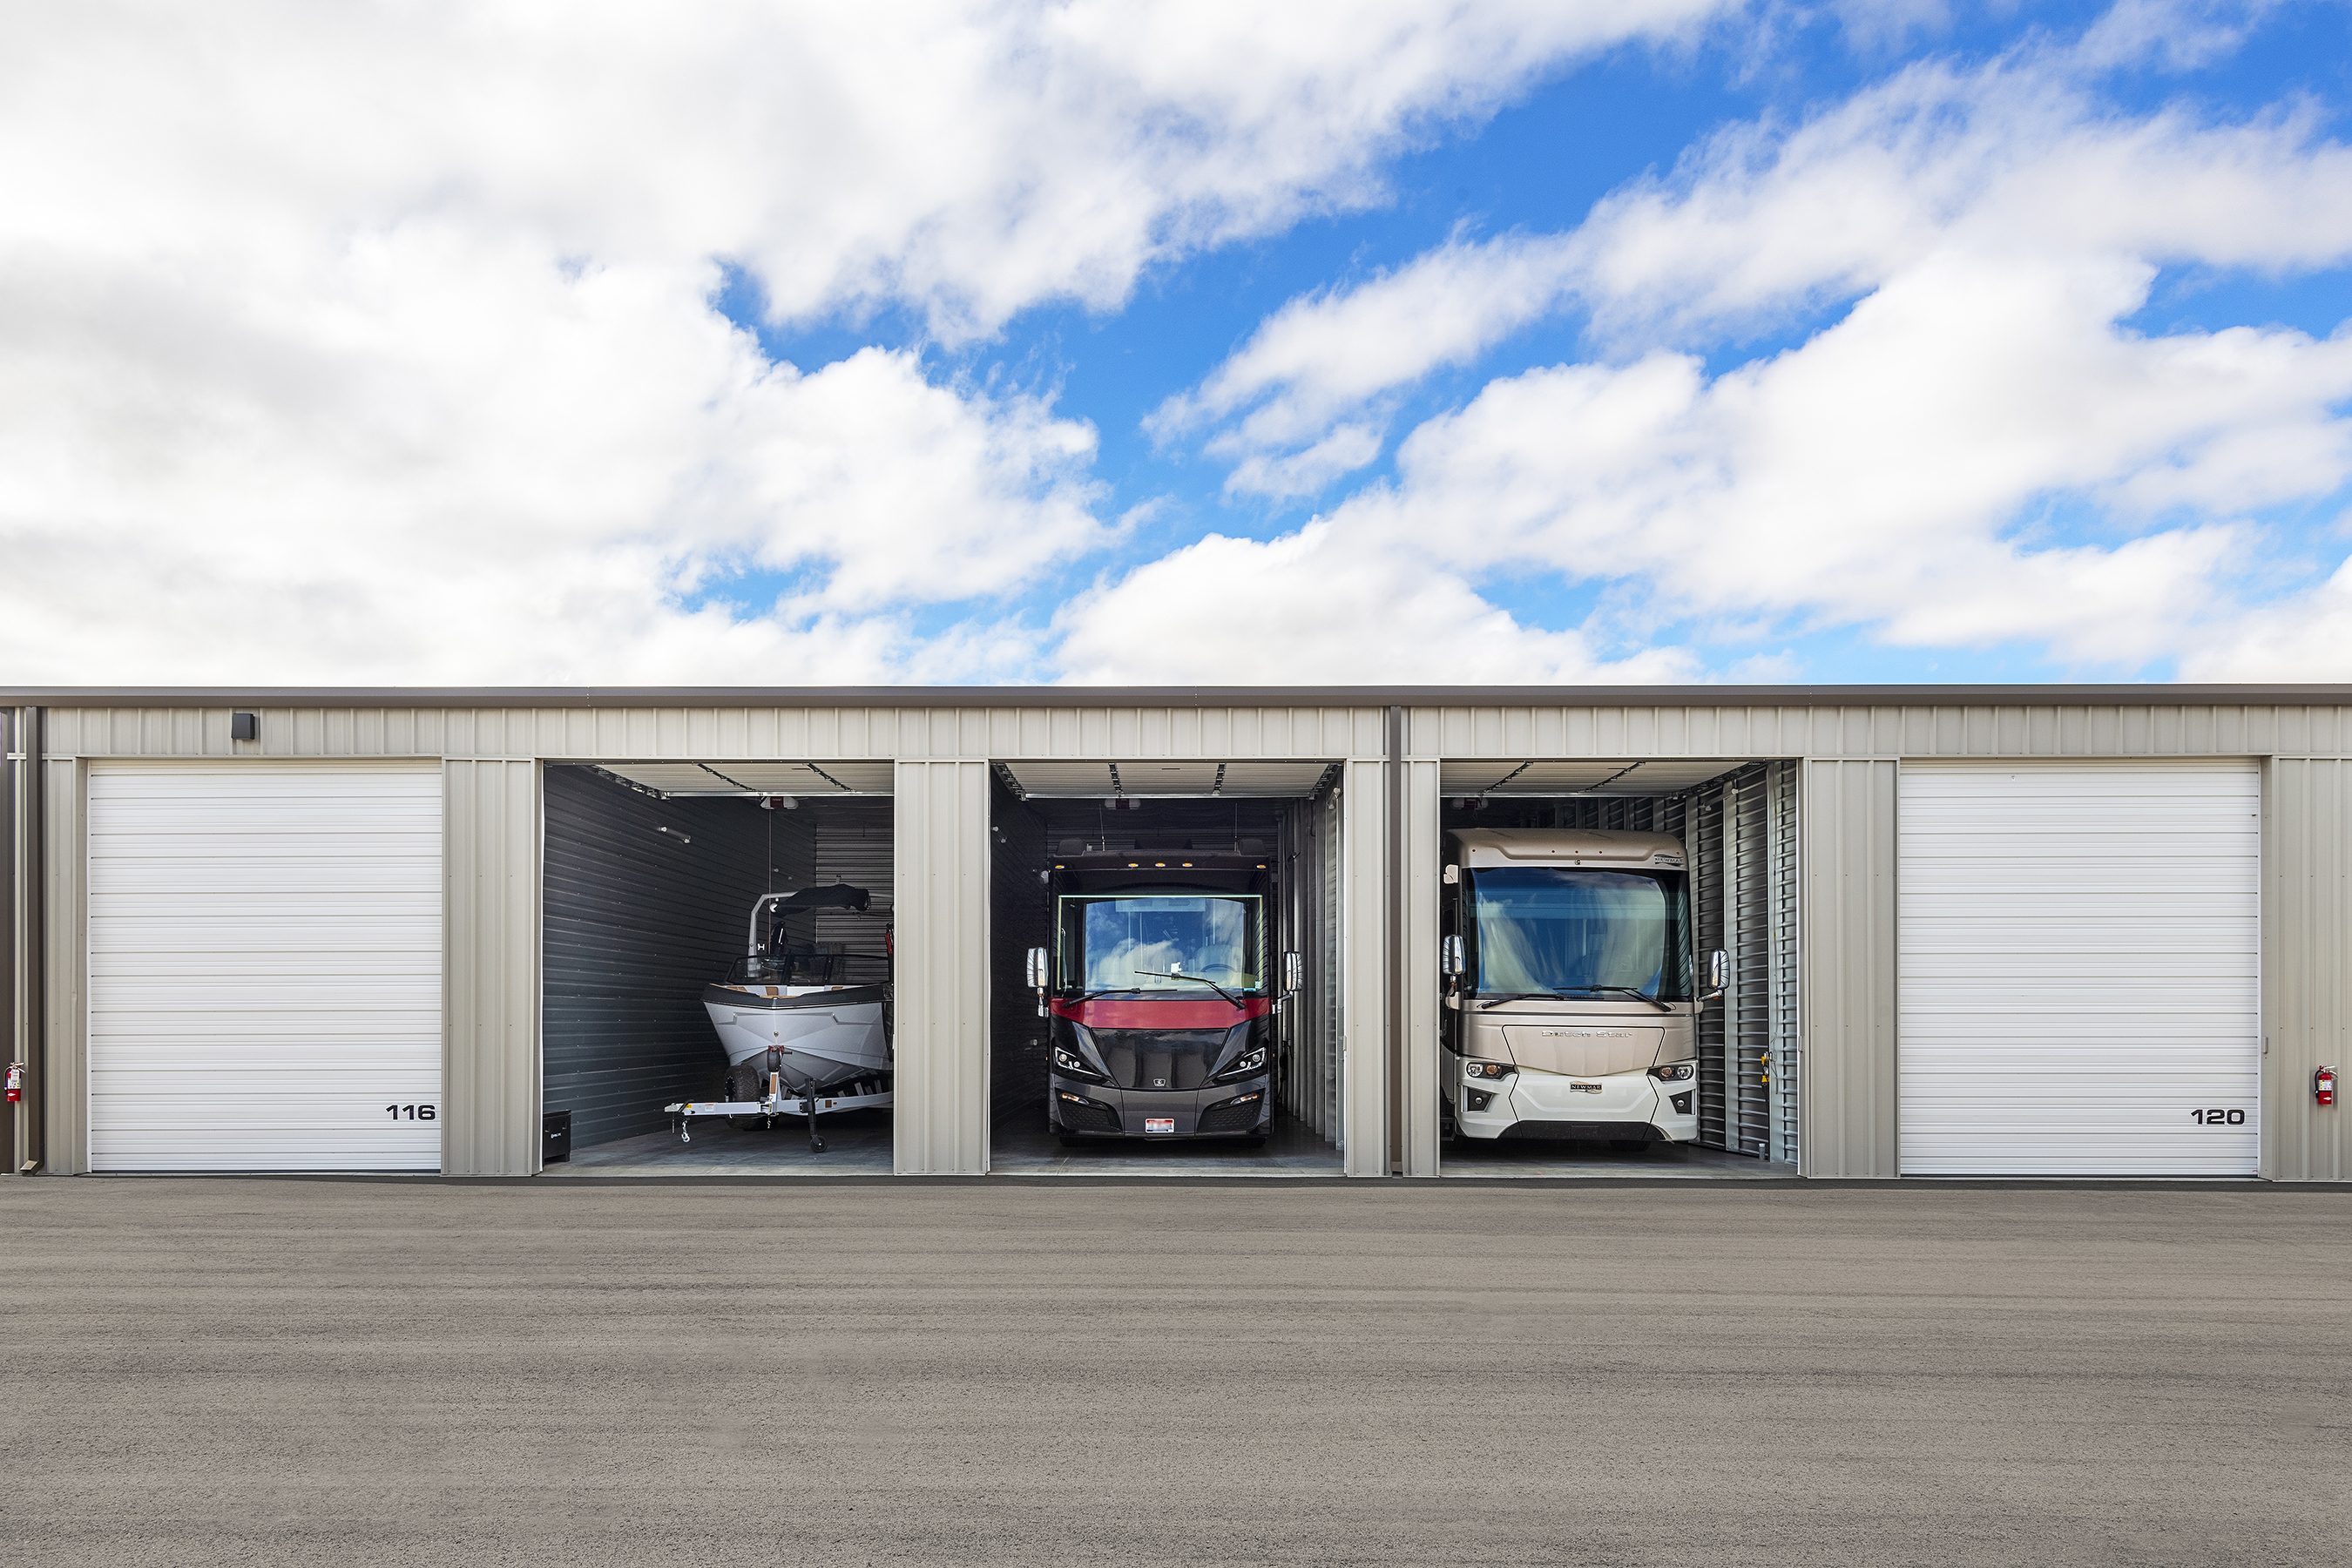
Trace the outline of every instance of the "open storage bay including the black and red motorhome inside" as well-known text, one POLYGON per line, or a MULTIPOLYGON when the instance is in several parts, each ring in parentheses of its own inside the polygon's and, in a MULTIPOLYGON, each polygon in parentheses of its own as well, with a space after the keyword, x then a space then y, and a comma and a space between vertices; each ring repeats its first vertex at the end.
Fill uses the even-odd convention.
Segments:
POLYGON ((990 1171, 1341 1168, 1327 762, 1002 762, 990 1171))

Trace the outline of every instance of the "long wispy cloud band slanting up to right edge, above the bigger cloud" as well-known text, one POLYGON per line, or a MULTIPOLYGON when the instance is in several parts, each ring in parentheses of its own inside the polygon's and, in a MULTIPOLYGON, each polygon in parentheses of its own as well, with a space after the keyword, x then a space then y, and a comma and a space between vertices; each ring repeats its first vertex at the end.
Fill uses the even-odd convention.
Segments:
MULTIPOLYGON (((2112 14, 2105 38, 2131 16, 2112 14)), ((2145 21, 2145 16, 2140 19, 2145 21)), ((2138 21, 2133 21, 2138 26, 2138 21)), ((1378 454, 1395 395, 1510 331, 1583 308, 1639 355, 1780 331, 1950 252, 2018 268, 2103 261, 2300 270, 2352 256, 2352 148, 2307 118, 2119 118, 2079 49, 1896 78, 1797 127, 1731 127, 1566 235, 1454 237, 1350 289, 1289 301, 1152 430, 1209 428, 1230 489, 1301 496, 1378 454), (1334 428, 1350 465, 1322 458, 1334 428)))

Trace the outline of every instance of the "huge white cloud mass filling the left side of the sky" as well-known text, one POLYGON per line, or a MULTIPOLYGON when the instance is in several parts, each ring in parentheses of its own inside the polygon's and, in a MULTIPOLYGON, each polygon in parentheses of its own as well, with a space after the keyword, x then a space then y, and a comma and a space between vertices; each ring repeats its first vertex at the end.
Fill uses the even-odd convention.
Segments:
POLYGON ((913 355, 769 367, 720 261, 946 343, 1112 308, 1722 7, 14 7, 0 670, 1025 672, 910 607, 1103 543, 1094 433, 913 355), (734 571, 800 576, 769 614, 734 571))

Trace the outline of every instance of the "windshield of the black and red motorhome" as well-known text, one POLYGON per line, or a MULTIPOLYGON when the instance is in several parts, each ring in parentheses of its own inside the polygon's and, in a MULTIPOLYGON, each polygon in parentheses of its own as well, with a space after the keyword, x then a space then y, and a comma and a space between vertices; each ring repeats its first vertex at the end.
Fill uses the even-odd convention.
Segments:
POLYGON ((1256 893, 1103 893, 1061 900, 1061 976, 1080 990, 1258 990, 1256 893), (1174 978, 1183 976, 1183 978, 1174 978))

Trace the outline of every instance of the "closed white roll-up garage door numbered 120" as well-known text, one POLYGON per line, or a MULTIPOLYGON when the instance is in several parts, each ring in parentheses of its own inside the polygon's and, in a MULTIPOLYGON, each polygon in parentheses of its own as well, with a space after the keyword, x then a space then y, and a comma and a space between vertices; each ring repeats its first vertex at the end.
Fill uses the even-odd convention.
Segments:
POLYGON ((2256 1175, 2251 762, 1903 764, 1905 1175, 2256 1175))

